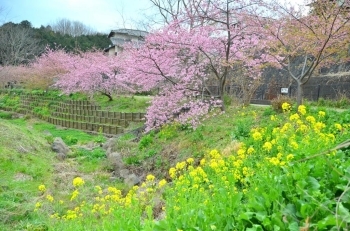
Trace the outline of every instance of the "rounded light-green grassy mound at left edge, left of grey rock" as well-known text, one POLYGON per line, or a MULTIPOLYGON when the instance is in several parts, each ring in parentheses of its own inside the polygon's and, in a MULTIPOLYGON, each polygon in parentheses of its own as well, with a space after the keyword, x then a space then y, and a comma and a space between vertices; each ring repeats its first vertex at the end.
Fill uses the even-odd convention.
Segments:
POLYGON ((50 185, 54 154, 33 129, 0 119, 0 134, 0 230, 17 230, 36 219, 37 186, 50 185))

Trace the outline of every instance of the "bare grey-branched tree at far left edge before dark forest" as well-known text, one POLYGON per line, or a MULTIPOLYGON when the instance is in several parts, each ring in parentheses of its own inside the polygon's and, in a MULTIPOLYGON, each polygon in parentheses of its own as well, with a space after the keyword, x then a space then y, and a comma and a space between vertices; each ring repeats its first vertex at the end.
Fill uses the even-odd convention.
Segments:
POLYGON ((41 51, 39 40, 33 36, 32 28, 13 23, 0 27, 0 65, 28 64, 41 51))

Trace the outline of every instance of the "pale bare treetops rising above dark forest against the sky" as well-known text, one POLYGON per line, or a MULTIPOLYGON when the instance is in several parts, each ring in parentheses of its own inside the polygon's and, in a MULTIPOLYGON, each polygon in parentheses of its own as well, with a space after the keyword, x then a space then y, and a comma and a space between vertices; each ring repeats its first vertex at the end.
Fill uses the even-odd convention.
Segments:
POLYGON ((84 25, 82 22, 71 21, 66 18, 57 20, 55 23, 51 25, 51 28, 55 32, 58 32, 61 34, 68 34, 73 37, 93 34, 92 29, 84 25))

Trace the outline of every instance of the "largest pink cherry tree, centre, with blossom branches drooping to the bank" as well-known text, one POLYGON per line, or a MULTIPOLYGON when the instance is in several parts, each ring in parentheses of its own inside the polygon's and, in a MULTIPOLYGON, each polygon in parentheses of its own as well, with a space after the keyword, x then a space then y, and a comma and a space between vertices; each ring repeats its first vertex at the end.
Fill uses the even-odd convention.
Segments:
POLYGON ((124 51, 128 81, 143 90, 160 88, 147 112, 147 129, 172 120, 195 126, 218 102, 224 111, 227 81, 235 73, 258 79, 272 60, 262 53, 266 37, 245 21, 247 2, 187 2, 184 12, 167 18, 168 24, 150 33, 144 46, 124 51), (217 85, 218 92, 209 84, 217 85))

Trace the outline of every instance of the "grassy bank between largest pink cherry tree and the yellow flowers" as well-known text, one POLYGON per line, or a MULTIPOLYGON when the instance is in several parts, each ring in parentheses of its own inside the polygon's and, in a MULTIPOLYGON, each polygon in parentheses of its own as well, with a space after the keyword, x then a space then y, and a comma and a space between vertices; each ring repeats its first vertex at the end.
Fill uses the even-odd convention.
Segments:
POLYGON ((248 137, 250 129, 261 124, 264 120, 261 114, 269 108, 228 108, 224 114, 205 120, 196 130, 167 126, 159 133, 143 136, 139 143, 128 141, 127 136, 121 138, 115 148, 122 153, 126 164, 135 166, 144 174, 152 173, 161 178, 170 167, 188 157, 200 160, 212 149, 228 155, 235 149, 237 140, 248 137))

